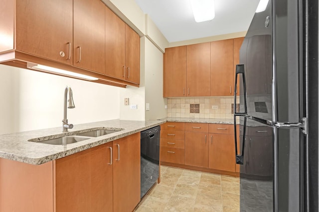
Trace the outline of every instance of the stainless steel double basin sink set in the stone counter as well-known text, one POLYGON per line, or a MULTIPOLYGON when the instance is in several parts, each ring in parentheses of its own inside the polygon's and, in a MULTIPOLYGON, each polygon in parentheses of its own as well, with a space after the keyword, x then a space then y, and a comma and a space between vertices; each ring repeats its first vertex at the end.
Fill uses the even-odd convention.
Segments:
POLYGON ((40 141, 41 139, 38 138, 38 139, 31 139, 29 141, 38 142, 38 143, 47 143, 47 144, 53 144, 53 145, 65 145, 65 144, 85 141, 85 140, 91 139, 92 137, 100 137, 100 136, 116 133, 116 132, 119 132, 121 130, 123 130, 123 129, 112 129, 112 130, 89 129, 88 132, 76 133, 75 135, 72 135, 72 136, 64 136, 64 137, 60 137, 60 138, 56 138, 56 139, 48 139, 48 140, 43 140, 43 141, 40 141))

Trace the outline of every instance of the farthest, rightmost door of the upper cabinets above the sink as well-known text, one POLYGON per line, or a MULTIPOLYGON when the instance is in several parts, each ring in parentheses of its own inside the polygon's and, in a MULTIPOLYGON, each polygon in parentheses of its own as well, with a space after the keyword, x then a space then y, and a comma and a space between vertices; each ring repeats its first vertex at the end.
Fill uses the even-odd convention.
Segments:
POLYGON ((125 25, 125 79, 140 84, 140 36, 125 25))

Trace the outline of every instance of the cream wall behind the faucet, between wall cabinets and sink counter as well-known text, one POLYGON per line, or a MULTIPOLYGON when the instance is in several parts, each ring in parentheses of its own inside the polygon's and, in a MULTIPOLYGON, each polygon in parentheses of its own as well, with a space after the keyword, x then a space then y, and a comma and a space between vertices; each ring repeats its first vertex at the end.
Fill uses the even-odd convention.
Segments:
POLYGON ((0 134, 62 126, 64 88, 73 90, 71 124, 118 119, 118 87, 0 65, 0 134))

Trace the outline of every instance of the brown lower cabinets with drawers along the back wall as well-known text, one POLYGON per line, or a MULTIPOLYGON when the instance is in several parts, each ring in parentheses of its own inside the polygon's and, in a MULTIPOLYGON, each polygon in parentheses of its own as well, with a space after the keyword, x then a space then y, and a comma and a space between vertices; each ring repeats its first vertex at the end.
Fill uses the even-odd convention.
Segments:
POLYGON ((161 164, 239 175, 239 170, 235 168, 233 125, 167 122, 161 125, 161 129, 164 129, 160 138, 161 164), (178 127, 181 124, 185 127, 178 127), (176 130, 170 128, 168 131, 167 126, 174 126, 176 130), (184 141, 181 140, 182 133, 184 141), (177 136, 180 140, 167 139, 169 135, 177 136))

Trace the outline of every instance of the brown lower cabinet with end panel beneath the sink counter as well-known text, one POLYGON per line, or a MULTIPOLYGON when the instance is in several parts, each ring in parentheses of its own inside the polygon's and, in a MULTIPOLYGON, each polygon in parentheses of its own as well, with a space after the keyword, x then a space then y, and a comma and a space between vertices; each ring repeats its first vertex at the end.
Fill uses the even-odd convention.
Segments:
POLYGON ((42 165, 0 158, 0 211, 133 211, 140 149, 137 133, 42 165))

